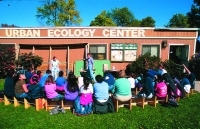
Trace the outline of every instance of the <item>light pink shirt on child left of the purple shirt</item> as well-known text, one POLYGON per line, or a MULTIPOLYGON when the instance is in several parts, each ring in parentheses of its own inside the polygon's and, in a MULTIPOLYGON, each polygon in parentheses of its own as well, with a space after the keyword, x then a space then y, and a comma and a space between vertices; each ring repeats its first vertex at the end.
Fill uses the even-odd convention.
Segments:
POLYGON ((55 98, 58 95, 56 92, 56 84, 45 84, 44 88, 48 99, 55 98))

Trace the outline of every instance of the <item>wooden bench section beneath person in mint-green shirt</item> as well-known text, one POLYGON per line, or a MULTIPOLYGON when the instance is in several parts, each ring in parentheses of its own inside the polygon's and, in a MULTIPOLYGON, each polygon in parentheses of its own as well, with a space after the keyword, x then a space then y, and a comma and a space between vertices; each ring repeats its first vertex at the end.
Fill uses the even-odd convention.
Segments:
POLYGON ((122 102, 113 97, 113 102, 114 102, 114 107, 115 107, 116 112, 118 112, 118 109, 120 107, 124 107, 125 105, 127 105, 130 110, 132 109, 132 99, 122 102))

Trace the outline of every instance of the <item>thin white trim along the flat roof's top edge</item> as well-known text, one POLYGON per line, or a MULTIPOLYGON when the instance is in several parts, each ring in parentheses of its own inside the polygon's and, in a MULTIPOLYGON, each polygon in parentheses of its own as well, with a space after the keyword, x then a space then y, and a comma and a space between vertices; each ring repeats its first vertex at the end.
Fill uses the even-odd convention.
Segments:
POLYGON ((164 27, 100 27, 100 26, 86 26, 86 27, 73 27, 73 26, 67 26, 67 27, 24 27, 24 28, 0 28, 0 30, 4 30, 4 29, 57 29, 57 28, 77 28, 77 29, 82 29, 82 28, 91 28, 91 29, 146 29, 146 30, 199 30, 198 28, 164 28, 164 27))

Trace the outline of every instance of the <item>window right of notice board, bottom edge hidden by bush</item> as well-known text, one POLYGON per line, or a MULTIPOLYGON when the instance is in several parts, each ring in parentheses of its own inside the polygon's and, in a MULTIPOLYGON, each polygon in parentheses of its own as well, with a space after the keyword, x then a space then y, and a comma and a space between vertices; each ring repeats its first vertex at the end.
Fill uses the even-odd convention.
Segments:
POLYGON ((160 55, 160 46, 159 45, 143 45, 142 46, 142 55, 149 52, 151 56, 157 56, 160 55))

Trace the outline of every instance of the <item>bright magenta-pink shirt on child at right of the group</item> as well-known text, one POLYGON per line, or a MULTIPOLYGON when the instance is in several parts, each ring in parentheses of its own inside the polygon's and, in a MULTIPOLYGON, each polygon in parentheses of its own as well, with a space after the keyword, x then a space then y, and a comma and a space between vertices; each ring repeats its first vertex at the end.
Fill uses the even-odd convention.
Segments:
POLYGON ((159 82, 155 87, 156 96, 163 98, 167 95, 167 85, 164 82, 159 82))

